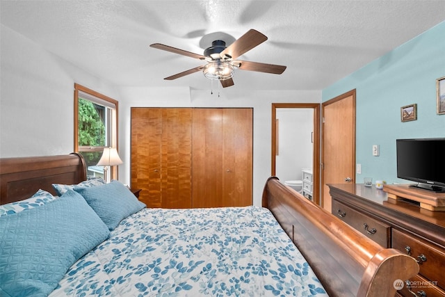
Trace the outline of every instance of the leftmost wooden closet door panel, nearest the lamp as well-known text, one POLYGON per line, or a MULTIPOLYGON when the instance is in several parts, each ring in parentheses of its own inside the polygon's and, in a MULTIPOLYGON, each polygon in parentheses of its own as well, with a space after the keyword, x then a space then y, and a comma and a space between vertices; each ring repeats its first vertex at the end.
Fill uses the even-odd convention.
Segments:
POLYGON ((131 108, 131 187, 139 200, 161 207, 161 109, 131 108))

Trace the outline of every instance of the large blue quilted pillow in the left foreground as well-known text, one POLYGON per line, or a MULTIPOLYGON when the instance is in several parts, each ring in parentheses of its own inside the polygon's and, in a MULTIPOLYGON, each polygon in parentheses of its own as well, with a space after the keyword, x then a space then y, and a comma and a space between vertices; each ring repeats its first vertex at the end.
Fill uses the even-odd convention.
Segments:
POLYGON ((81 195, 0 216, 0 293, 47 296, 80 257, 110 232, 81 195))

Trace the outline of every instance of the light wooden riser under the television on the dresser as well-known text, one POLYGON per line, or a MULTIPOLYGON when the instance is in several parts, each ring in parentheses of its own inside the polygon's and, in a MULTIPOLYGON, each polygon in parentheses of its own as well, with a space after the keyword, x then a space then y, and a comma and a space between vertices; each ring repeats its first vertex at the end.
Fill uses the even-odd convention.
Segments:
POLYGON ((383 191, 388 193, 389 199, 412 200, 420 202, 420 207, 423 209, 445 211, 445 192, 425 190, 427 189, 422 186, 412 184, 385 184, 383 186, 383 191))

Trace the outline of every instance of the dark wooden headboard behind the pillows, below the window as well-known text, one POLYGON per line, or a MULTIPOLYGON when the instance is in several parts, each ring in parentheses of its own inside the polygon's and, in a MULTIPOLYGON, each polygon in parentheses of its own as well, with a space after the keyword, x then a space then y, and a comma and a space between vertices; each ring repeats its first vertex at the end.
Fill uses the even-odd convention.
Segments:
POLYGON ((51 184, 78 184, 86 180, 80 154, 26 156, 0 159, 0 204, 31 197, 39 188, 56 195, 51 184))

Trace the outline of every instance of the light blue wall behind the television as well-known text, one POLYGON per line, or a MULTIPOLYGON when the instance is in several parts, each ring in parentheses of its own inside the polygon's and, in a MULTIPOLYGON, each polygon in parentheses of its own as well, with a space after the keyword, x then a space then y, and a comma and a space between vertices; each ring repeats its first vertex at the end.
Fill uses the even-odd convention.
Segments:
POLYGON ((445 22, 323 90, 323 102, 357 90, 357 183, 363 177, 407 183, 397 179, 396 139, 445 137, 445 115, 436 107, 439 77, 445 77, 445 22), (401 122, 401 106, 414 103, 417 120, 401 122), (372 156, 372 145, 380 145, 380 156, 372 156))

